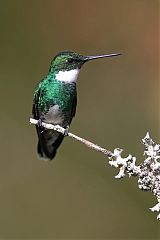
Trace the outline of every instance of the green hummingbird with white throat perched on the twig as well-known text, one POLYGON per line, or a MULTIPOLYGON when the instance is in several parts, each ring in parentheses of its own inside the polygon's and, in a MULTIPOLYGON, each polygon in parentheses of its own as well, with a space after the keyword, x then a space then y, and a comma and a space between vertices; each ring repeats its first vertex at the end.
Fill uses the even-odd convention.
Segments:
POLYGON ((76 80, 83 64, 91 60, 118 55, 120 53, 83 56, 73 51, 63 51, 53 58, 48 74, 35 89, 32 108, 33 118, 38 120, 37 151, 42 159, 52 160, 64 136, 67 136, 72 118, 76 113, 76 80), (65 128, 65 134, 45 129, 42 127, 42 122, 60 125, 65 128))

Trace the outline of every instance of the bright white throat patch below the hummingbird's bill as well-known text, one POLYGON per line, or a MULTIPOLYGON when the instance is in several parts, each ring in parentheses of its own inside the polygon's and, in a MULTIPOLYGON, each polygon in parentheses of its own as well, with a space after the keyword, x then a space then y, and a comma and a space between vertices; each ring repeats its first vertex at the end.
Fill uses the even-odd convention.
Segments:
POLYGON ((72 69, 69 71, 59 71, 56 74, 56 79, 66 83, 76 82, 78 77, 79 69, 72 69))

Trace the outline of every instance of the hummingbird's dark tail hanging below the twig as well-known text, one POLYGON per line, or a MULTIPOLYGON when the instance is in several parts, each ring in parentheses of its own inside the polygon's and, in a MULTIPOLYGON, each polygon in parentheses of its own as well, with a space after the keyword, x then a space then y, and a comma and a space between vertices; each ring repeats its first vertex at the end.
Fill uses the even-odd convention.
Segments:
POLYGON ((46 130, 39 135, 37 151, 39 156, 44 160, 52 160, 57 148, 60 146, 64 135, 52 130, 46 130))

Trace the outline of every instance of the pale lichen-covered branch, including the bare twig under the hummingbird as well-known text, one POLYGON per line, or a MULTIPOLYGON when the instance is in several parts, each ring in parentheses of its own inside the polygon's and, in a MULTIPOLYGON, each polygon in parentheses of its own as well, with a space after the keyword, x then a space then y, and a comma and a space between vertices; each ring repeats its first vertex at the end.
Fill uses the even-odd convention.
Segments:
MULTIPOLYGON (((30 118, 30 123, 37 125, 38 120, 30 118)), ((65 129, 59 125, 42 122, 42 126, 46 129, 65 134, 65 129)), ((160 145, 153 142, 149 133, 142 139, 145 149, 145 160, 139 166, 136 165, 136 157, 133 157, 131 154, 123 158, 121 156, 123 150, 120 148, 115 148, 114 151, 111 152, 73 133, 69 132, 68 136, 107 156, 110 159, 109 164, 119 169, 119 173, 115 178, 123 178, 125 174, 128 174, 129 177, 137 176, 138 187, 141 190, 151 191, 156 196, 158 203, 150 208, 150 210, 158 212, 157 219, 160 220, 160 145)))

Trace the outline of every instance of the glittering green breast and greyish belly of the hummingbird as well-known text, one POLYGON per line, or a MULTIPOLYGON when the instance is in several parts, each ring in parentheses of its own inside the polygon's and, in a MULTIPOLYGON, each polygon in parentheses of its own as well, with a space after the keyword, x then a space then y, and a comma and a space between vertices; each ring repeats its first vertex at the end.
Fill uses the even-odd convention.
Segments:
POLYGON ((76 84, 47 78, 39 88, 40 118, 62 127, 70 125, 76 108, 76 84))

